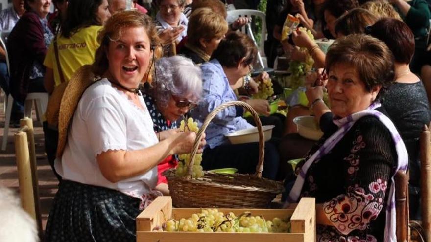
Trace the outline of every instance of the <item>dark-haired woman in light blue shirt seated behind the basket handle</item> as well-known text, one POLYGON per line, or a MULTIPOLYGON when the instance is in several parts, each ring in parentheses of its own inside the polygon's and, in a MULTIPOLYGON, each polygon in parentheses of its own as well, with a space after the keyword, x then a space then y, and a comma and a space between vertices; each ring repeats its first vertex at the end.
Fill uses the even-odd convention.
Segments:
MULTIPOLYGON (((203 98, 192 117, 200 124, 217 106, 237 100, 234 93, 239 88, 238 80, 251 71, 256 62, 257 48, 245 34, 230 32, 223 39, 216 51, 214 59, 202 64, 203 98)), ((266 74, 267 75, 267 74, 266 74)), ((262 76, 261 76, 262 78, 262 76)), ((266 100, 247 100, 258 112, 268 113, 266 100)), ((233 167, 239 173, 254 173, 258 163, 258 143, 229 144, 224 134, 242 129, 252 128, 244 118, 244 110, 230 107, 219 112, 206 130, 208 145, 204 149, 202 167, 204 170, 233 167)), ((274 179, 279 165, 279 154, 271 142, 265 144, 265 160, 263 177, 274 179)))

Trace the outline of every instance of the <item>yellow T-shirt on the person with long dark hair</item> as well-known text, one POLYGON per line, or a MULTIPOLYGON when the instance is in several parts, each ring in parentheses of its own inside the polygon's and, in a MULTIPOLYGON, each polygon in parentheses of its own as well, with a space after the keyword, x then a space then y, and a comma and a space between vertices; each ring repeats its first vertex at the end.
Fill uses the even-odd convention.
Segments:
MULTIPOLYGON (((80 29, 70 38, 57 35, 58 56, 65 81, 81 66, 93 64, 96 50, 99 47, 97 33, 102 26, 90 26, 80 29)), ((55 86, 60 85, 57 60, 55 60, 54 41, 49 45, 44 65, 54 70, 55 86)))

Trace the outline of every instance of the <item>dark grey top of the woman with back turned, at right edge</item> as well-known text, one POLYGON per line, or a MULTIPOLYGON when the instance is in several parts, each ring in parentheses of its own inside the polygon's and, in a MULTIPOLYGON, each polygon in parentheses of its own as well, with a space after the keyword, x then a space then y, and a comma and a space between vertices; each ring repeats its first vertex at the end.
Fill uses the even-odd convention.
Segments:
POLYGON ((410 184, 419 186, 419 137, 424 125, 430 123, 430 110, 424 85, 421 81, 394 83, 383 98, 382 105, 407 148, 410 184))

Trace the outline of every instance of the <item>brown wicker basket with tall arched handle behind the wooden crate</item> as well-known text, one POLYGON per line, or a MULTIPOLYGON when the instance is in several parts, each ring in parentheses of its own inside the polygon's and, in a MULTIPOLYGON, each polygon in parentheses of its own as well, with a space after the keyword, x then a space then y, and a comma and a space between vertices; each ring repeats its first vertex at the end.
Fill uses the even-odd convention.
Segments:
POLYGON ((218 106, 205 119, 200 128, 192 150, 187 177, 175 176, 175 170, 169 169, 163 175, 168 179, 172 202, 175 207, 220 207, 220 208, 267 208, 275 196, 283 191, 281 182, 262 178, 264 136, 258 114, 248 104, 231 101, 218 106), (204 176, 192 179, 194 156, 199 141, 211 120, 221 110, 241 106, 252 114, 259 131, 259 163, 254 175, 224 175, 204 172, 204 176))

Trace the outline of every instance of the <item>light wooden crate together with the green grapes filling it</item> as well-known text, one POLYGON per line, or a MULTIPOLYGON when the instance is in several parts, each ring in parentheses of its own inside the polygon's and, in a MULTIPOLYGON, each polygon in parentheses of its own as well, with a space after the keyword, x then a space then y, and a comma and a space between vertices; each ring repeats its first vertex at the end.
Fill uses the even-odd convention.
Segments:
POLYGON ((313 242, 314 198, 289 209, 172 208, 158 197, 136 218, 137 242, 313 242))

